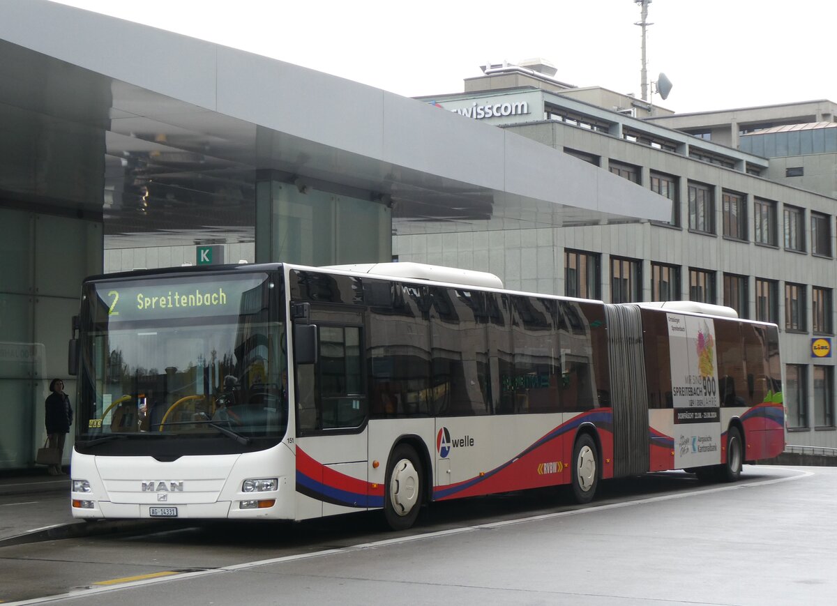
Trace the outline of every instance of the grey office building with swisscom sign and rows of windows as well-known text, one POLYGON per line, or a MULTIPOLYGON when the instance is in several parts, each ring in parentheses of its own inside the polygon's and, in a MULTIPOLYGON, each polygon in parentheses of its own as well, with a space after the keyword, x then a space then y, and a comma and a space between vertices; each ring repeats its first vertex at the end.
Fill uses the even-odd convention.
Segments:
POLYGON ((830 353, 837 288, 833 104, 643 120, 609 101, 602 107, 573 98, 569 85, 547 90, 533 84, 538 78, 515 78, 512 88, 479 90, 475 80, 491 80, 470 79, 465 93, 421 99, 463 121, 495 124, 563 151, 578 167, 597 167, 659 193, 672 202, 670 218, 398 234, 393 254, 490 271, 521 290, 608 302, 693 300, 775 322, 788 443, 837 449, 830 353), (770 122, 809 118, 828 124, 770 122), (733 138, 740 148, 730 145, 733 138), (794 176, 793 167, 804 174, 794 176))

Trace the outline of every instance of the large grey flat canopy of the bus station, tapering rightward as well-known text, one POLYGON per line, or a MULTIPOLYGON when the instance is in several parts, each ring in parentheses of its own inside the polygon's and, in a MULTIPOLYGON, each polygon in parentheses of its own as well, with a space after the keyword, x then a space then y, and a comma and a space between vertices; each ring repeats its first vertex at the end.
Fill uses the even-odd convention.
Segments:
POLYGON ((0 8, 0 198, 112 237, 252 236, 268 174, 391 203, 398 234, 670 218, 644 187, 419 100, 46 0, 0 8))

